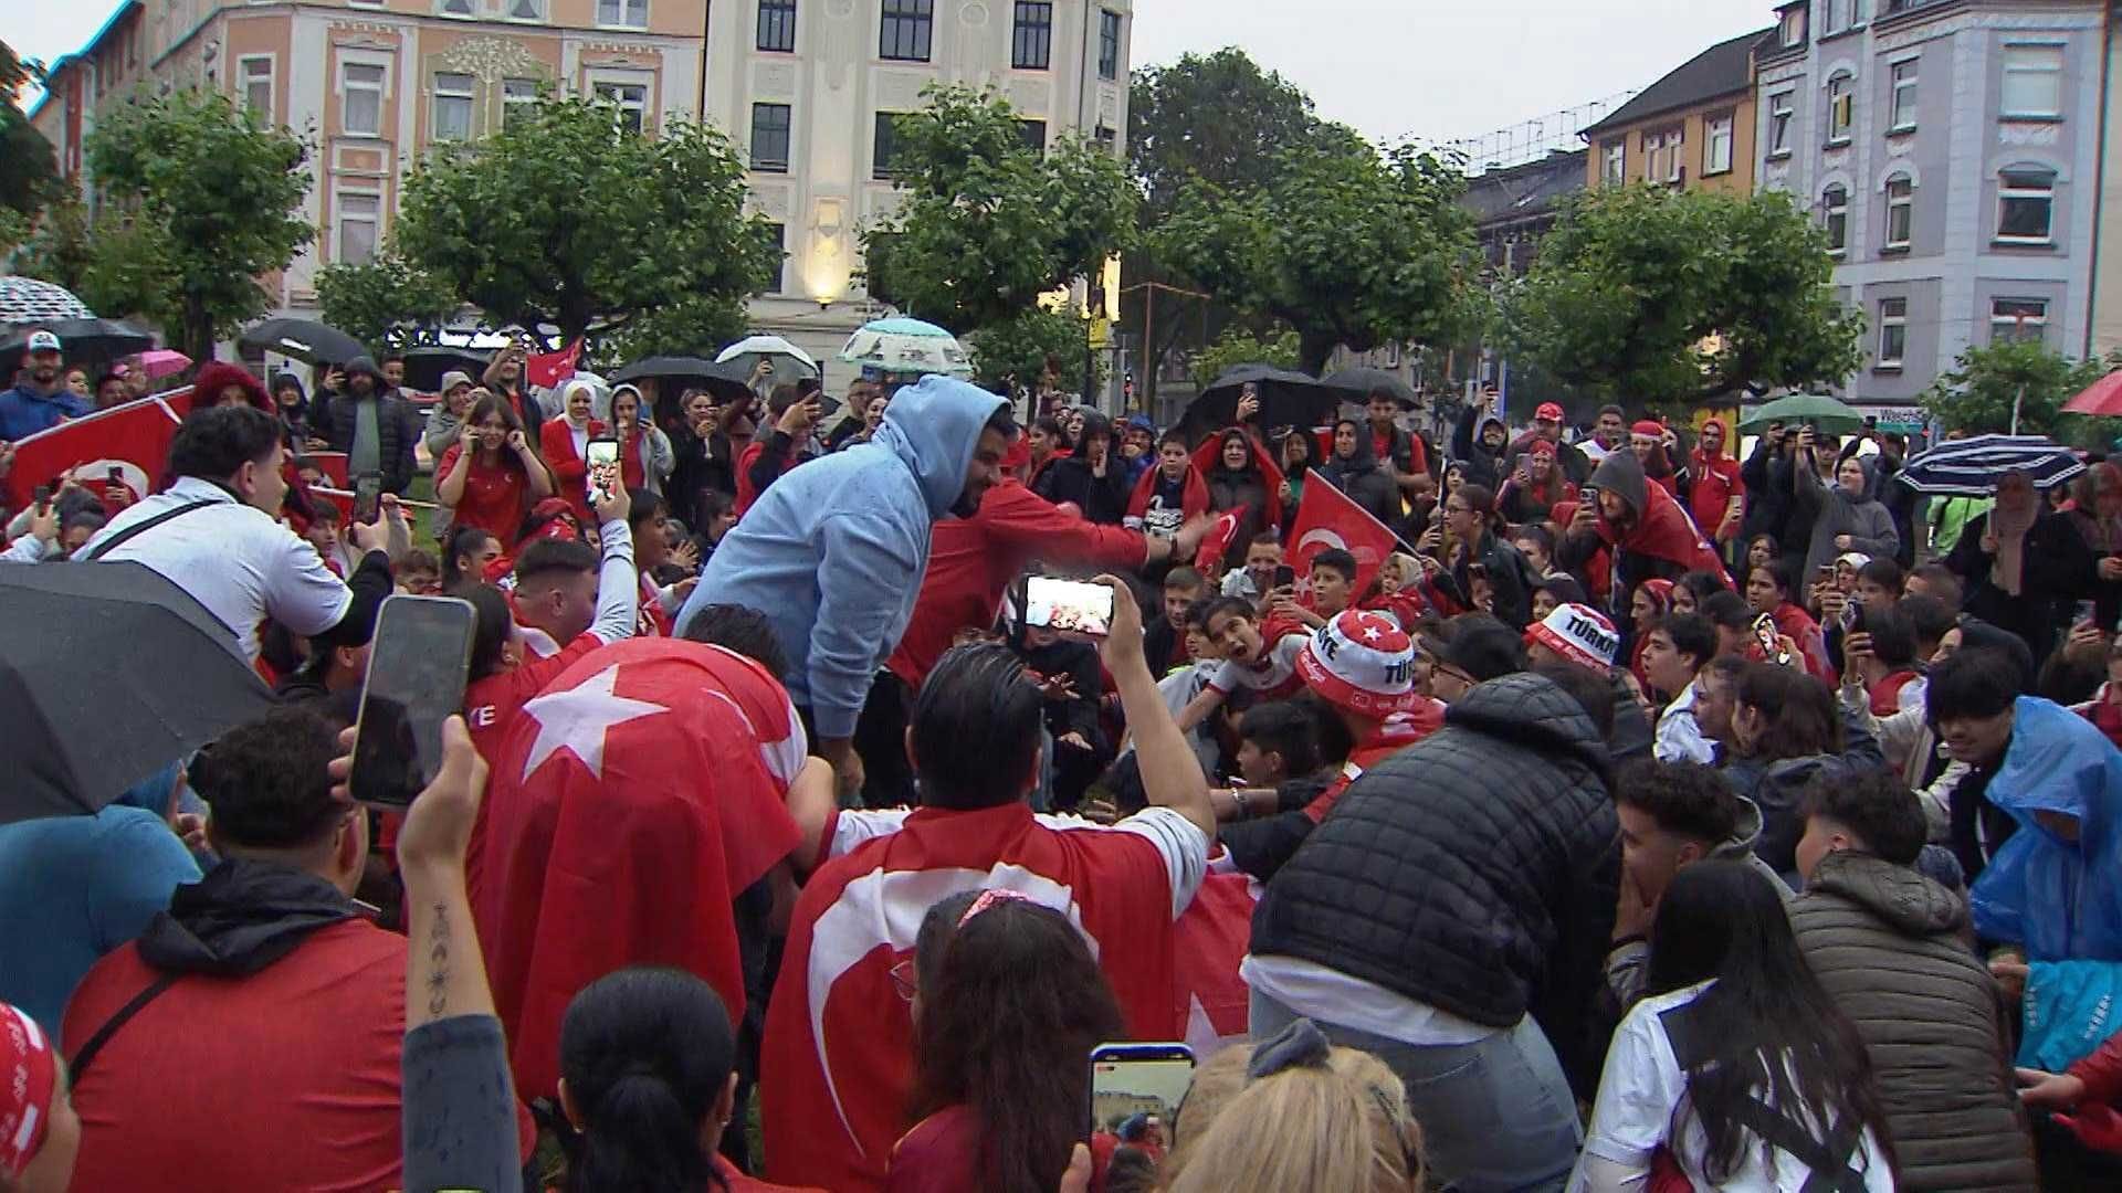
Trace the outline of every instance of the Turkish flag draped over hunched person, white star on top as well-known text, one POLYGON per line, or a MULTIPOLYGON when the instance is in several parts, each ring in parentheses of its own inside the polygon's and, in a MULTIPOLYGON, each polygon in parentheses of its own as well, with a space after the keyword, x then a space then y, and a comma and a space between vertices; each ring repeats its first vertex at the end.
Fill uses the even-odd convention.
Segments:
POLYGON ((526 701, 501 739, 471 909, 516 1089, 558 1089, 560 1017, 626 966, 745 979, 730 900, 796 847, 806 743, 787 692, 734 652, 618 641, 526 701))

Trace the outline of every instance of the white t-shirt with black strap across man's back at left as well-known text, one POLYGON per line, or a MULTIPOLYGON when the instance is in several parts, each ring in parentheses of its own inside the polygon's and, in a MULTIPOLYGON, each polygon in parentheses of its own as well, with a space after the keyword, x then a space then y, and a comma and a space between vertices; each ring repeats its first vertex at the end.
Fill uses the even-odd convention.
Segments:
POLYGON ((206 605, 229 626, 244 658, 259 656, 259 622, 272 618, 297 637, 320 635, 340 624, 354 594, 331 575, 316 548, 276 522, 263 509, 236 501, 219 484, 182 478, 123 509, 83 548, 95 552, 104 539, 168 509, 210 501, 204 509, 125 539, 102 563, 142 563, 206 605))

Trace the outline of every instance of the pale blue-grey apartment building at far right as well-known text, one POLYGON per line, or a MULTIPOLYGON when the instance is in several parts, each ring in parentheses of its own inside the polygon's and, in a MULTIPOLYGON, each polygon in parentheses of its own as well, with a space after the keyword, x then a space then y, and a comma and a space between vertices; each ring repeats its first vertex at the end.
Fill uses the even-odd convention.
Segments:
POLYGON ((2088 344, 2103 11, 1799 0, 1755 57, 1759 185, 1827 229, 1865 312, 1848 397, 1910 405, 1969 344, 2088 344))

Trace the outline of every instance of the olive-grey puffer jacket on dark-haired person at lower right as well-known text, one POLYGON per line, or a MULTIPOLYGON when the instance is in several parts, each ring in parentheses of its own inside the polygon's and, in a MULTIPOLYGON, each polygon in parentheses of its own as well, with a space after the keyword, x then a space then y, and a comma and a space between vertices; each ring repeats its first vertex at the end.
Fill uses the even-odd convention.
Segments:
POLYGON ((1791 928, 1872 1055, 1899 1187, 2035 1189, 2010 1010, 1965 943, 1965 900, 1910 866, 1840 851, 1791 902, 1791 928))

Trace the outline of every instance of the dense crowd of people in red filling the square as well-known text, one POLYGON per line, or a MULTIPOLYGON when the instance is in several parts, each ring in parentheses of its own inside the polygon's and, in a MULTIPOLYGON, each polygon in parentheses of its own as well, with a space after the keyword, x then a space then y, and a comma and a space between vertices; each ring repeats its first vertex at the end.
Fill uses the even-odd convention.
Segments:
POLYGON ((0 1191, 2122 1187, 2116 463, 753 380, 208 363, 153 492, 13 514, 278 707, 0 824, 0 1191), (378 811, 393 592, 475 633, 378 811), (1199 1059, 1150 1134, 1108 1040, 1199 1059))

